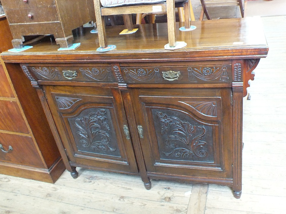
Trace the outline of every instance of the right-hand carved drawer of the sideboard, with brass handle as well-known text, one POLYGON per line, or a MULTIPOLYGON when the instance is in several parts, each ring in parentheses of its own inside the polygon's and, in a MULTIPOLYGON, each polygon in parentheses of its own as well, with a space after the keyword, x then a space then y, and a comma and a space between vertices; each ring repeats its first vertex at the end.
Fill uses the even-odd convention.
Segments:
POLYGON ((134 84, 192 84, 229 83, 231 64, 194 66, 121 67, 126 83, 134 84))

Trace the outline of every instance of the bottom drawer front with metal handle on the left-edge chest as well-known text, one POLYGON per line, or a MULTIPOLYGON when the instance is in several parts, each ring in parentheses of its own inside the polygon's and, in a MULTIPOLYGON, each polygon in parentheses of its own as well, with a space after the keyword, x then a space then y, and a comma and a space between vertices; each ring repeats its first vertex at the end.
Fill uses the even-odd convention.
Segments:
POLYGON ((0 133, 0 143, 5 151, 8 151, 9 146, 12 146, 13 148, 13 150, 9 150, 7 153, 0 150, 1 161, 40 168, 46 167, 43 164, 31 137, 0 133))

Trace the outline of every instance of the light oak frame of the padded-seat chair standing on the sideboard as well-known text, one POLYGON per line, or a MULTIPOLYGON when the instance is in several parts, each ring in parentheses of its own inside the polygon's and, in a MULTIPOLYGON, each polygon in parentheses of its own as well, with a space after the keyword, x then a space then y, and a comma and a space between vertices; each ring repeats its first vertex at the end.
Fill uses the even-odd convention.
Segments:
MULTIPOLYGON (((136 1, 138 3, 138 1, 136 1)), ((96 15, 96 23, 98 28, 98 39, 101 48, 107 47, 105 23, 102 16, 106 15, 123 15, 124 23, 127 25, 128 30, 133 29, 132 17, 133 13, 152 13, 158 8, 162 9, 162 12, 167 12, 168 22, 168 40, 169 46, 176 46, 176 20, 175 20, 175 0, 162 0, 161 3, 152 4, 132 4, 122 5, 116 7, 102 7, 100 0, 94 0, 94 9, 96 15), (165 1, 165 2, 164 2, 165 1), (154 7, 155 6, 155 7, 154 7)))

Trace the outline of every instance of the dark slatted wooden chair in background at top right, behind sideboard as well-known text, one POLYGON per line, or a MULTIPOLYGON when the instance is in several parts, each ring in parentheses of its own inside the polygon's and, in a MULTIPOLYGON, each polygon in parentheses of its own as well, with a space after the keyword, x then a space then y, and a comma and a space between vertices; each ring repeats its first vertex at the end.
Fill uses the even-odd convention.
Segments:
POLYGON ((202 3, 202 13, 200 20, 203 19, 204 14, 207 19, 211 19, 208 15, 208 7, 222 7, 222 6, 238 6, 240 7, 241 17, 244 17, 244 5, 247 0, 200 0, 202 3))

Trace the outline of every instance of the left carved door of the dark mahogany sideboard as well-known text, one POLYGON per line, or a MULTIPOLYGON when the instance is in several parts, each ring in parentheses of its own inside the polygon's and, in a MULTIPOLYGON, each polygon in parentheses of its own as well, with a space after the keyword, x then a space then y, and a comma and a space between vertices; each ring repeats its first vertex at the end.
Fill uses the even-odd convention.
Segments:
POLYGON ((116 88, 44 86, 73 166, 138 173, 120 92, 116 88))

